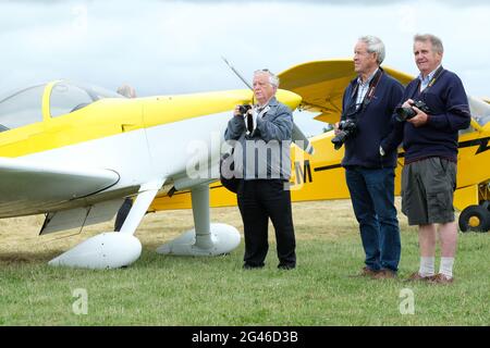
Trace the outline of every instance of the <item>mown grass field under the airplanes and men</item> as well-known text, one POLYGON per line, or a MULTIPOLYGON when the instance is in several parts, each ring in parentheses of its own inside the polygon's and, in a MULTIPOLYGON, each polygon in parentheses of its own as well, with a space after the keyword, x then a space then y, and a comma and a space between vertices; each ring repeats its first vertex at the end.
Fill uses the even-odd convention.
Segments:
MULTIPOLYGON (((157 254, 158 246, 192 228, 191 211, 148 214, 136 233, 142 258, 111 271, 57 269, 47 262, 88 236, 110 231, 112 223, 82 235, 37 237, 41 216, 0 220, 0 324, 490 324, 490 234, 460 235, 453 285, 405 283, 418 268, 418 247, 416 228, 400 214, 400 279, 353 278, 363 266, 363 250, 350 201, 295 203, 293 211, 298 259, 293 271, 275 269, 272 229, 264 270, 242 270, 243 240, 224 257, 157 254), (87 296, 87 314, 75 314, 82 308, 79 291, 87 296), (401 313, 407 291, 413 314, 401 313)), ((236 208, 213 209, 211 219, 243 231, 236 208)))

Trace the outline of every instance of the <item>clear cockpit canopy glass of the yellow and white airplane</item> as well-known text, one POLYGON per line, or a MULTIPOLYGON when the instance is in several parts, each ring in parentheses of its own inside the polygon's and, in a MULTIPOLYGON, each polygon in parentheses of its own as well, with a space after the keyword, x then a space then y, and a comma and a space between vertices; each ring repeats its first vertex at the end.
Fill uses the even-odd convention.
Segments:
MULTIPOLYGON (((42 98, 49 84, 16 89, 0 95, 0 132, 42 121, 42 98)), ((60 80, 49 96, 51 117, 61 116, 105 98, 124 98, 100 87, 60 80)))

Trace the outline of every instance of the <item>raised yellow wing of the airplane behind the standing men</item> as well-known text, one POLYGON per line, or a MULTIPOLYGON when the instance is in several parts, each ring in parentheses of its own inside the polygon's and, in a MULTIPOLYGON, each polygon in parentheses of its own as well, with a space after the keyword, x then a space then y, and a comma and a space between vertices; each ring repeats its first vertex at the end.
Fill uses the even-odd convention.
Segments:
MULTIPOLYGON (((383 70, 403 85, 413 79, 413 76, 393 69, 383 66, 383 70)), ((335 123, 342 112, 344 89, 355 77, 354 62, 352 60, 308 62, 282 72, 279 77, 281 88, 302 96, 303 110, 321 112, 316 120, 335 123)))

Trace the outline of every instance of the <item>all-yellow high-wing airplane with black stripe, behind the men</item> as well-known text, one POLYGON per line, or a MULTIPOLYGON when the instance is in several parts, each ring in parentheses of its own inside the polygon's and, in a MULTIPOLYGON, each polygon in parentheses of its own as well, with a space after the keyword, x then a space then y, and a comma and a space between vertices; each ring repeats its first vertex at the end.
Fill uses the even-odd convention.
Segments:
MULTIPOLYGON (((406 85, 414 77, 384 67, 384 71, 406 85)), ((327 123, 340 120, 342 96, 355 77, 352 60, 316 61, 294 66, 280 75, 281 88, 302 96, 302 110, 318 112, 315 117, 327 123)), ((454 206, 461 210, 460 227, 466 231, 490 229, 490 100, 469 97, 470 126, 460 134, 457 189, 454 206)), ((293 201, 345 199, 348 189, 340 162, 344 150, 334 150, 333 132, 310 138, 314 154, 297 151, 293 147, 293 201)), ((403 151, 399 153, 395 192, 400 195, 403 151)), ((236 197, 221 187, 211 185, 211 207, 236 204, 236 197)), ((186 192, 177 192, 171 199, 157 197, 151 210, 189 208, 186 192)))

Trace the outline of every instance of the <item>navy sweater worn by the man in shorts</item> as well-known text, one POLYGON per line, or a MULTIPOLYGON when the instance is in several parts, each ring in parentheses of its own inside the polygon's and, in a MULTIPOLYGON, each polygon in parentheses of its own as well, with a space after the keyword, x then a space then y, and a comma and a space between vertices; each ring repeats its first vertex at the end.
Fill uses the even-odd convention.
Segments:
POLYGON ((428 107, 428 122, 415 127, 409 122, 397 122, 394 130, 382 141, 385 150, 396 148, 403 140, 405 163, 429 157, 441 157, 457 161, 457 130, 469 126, 468 98, 463 83, 456 74, 444 70, 431 87, 419 92, 419 79, 406 86, 402 102, 407 99, 421 100, 428 107))

